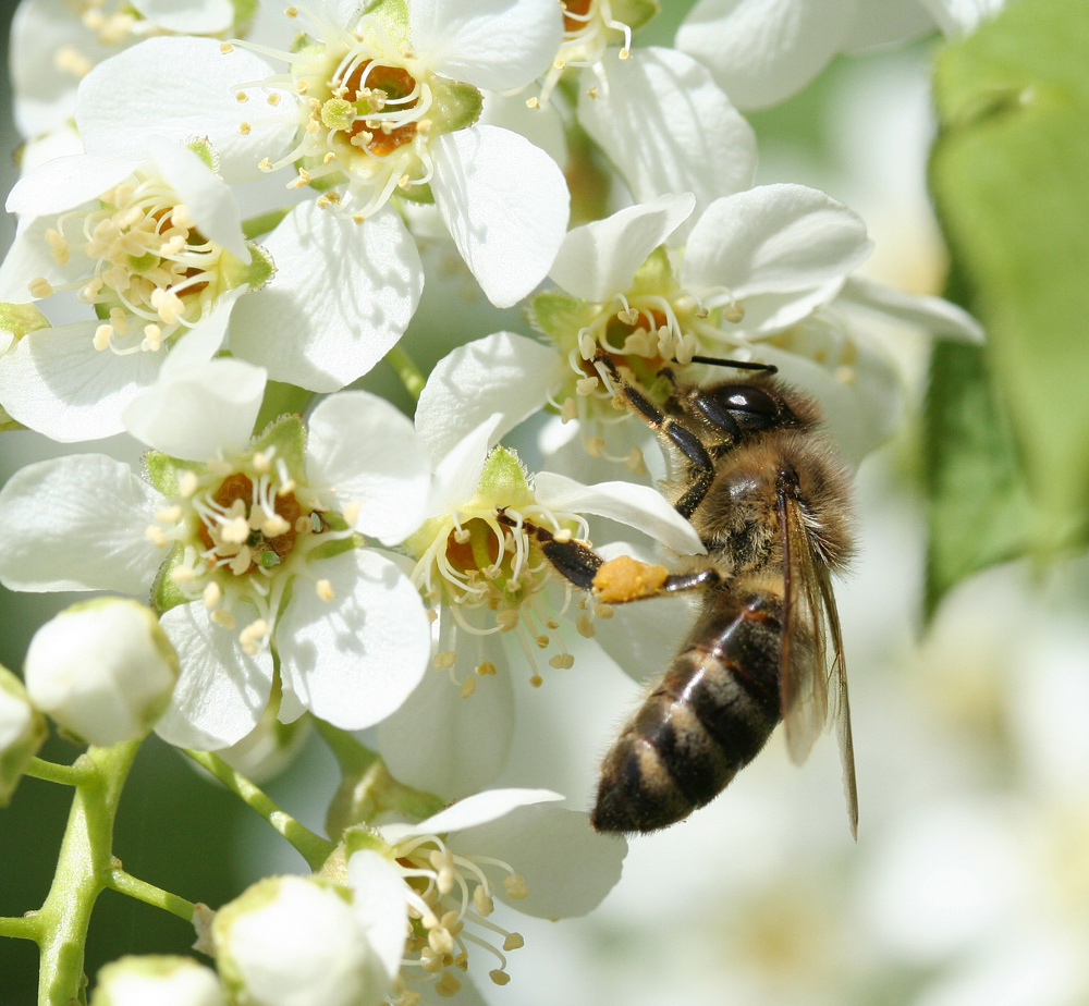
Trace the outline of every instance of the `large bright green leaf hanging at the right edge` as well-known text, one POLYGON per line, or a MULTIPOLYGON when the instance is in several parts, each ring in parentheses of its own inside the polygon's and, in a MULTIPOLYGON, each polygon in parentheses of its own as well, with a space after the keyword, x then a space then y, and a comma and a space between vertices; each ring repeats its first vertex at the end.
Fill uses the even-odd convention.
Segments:
MULTIPOLYGON (((937 64, 941 132, 931 159, 931 185, 954 260, 972 292, 970 306, 988 330, 994 402, 1010 417, 1016 446, 1014 451, 1000 443, 1004 434, 998 430, 991 431, 992 439, 977 440, 987 459, 977 491, 1006 492, 1013 467, 1023 473, 1032 503, 1020 510, 1025 520, 1020 545, 1011 528, 1012 513, 989 527, 965 525, 960 531, 965 537, 991 536, 974 542, 971 548, 980 554, 1016 552, 1030 542, 1033 552, 1047 556, 1086 537, 1089 19, 1085 12, 1085 0, 1012 3, 999 19, 944 50, 937 64)), ((950 360, 945 351, 939 363, 942 359, 950 360)), ((964 359, 960 363, 968 366, 964 359)), ((959 404, 953 389, 944 407, 950 413, 946 420, 962 408, 974 415, 969 426, 978 437, 986 412, 975 387, 968 381, 960 389, 959 404)), ((963 446, 934 445, 943 455, 938 468, 946 476, 957 458, 971 464, 963 446)), ((965 491, 959 490, 962 495, 965 491)), ((937 501, 940 506, 947 503, 949 499, 937 501)), ((965 545, 960 551, 970 550, 965 545)), ((942 582, 955 572, 952 559, 942 560, 944 572, 938 577, 942 582)))

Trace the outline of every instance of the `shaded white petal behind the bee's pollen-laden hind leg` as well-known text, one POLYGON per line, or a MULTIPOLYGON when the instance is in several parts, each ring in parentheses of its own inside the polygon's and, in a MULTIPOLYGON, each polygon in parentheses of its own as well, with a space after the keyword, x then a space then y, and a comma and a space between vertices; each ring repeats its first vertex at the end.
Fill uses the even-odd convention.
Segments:
MULTIPOLYGON (((611 541, 598 549, 598 554, 607 560, 631 555, 640 562, 661 562, 661 556, 626 542, 611 541)), ((636 682, 657 680, 696 622, 701 605, 695 593, 688 590, 615 604, 611 618, 594 623, 594 639, 636 682)))

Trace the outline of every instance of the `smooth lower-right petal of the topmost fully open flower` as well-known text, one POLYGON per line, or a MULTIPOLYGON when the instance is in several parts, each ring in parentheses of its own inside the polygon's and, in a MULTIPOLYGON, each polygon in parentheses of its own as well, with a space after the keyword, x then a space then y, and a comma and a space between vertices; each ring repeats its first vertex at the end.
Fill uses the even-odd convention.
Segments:
POLYGON ((432 150, 442 222, 488 299, 511 307, 544 279, 567 230, 563 173, 543 150, 499 126, 446 133, 432 150))

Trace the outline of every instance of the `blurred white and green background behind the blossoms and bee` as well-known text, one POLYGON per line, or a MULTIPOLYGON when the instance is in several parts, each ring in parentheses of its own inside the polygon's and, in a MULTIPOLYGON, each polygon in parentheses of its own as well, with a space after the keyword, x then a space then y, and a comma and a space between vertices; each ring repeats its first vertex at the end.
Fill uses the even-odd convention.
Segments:
MULTIPOLYGON (((666 12, 640 41, 666 42, 680 13, 666 12)), ((946 271, 925 184, 937 45, 921 39, 841 58, 802 95, 749 116, 760 139, 759 181, 802 182, 847 203, 877 242, 867 270, 917 293, 940 293, 946 271)), ((7 191, 17 145, 7 93, 0 116, 7 191)), ((12 234, 12 221, 0 220, 4 248, 12 234)), ((424 364, 501 327, 530 332, 519 312, 497 323, 495 311, 469 299, 451 329, 446 298, 464 282, 432 266, 407 336, 424 364)), ((908 332, 897 343, 916 404, 928 349, 908 332)), ((382 368, 366 385, 407 406, 382 368)), ((131 461, 139 454, 120 438, 91 449, 131 461)), ((0 480, 59 453, 68 449, 34 433, 5 433, 0 480)), ((776 733, 713 803, 631 843, 624 878, 599 911, 561 923, 510 921, 526 947, 511 960, 510 985, 485 980, 489 1002, 1089 1002, 1089 564, 996 566, 956 588, 925 625, 918 455, 916 418, 862 464, 859 554, 837 587, 858 768, 857 843, 834 743, 819 743, 799 770, 776 733)), ((35 628, 72 600, 0 588, 0 662, 20 668, 35 628)), ((638 686, 589 642, 571 671, 550 673, 540 689, 519 682, 517 750, 501 783, 548 786, 586 807, 597 761, 638 686)), ((77 749, 54 739, 42 753, 70 761, 77 749)), ((311 741, 267 788, 320 827, 335 784, 332 759, 311 741)), ((0 812, 0 913, 21 913, 45 897, 68 797, 26 780, 0 812)), ((115 852, 136 876, 215 907, 262 875, 304 868, 250 813, 152 737, 125 790, 115 852)), ((107 892, 87 969, 93 974, 123 953, 184 953, 192 940, 180 920, 107 892)), ((33 945, 0 941, 2 1006, 33 1002, 35 974, 33 945)))

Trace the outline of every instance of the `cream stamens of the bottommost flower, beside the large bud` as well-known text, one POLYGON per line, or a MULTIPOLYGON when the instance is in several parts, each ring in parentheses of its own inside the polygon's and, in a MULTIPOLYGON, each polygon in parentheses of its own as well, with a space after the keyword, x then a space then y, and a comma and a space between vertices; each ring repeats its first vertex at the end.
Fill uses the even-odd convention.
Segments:
POLYGON ((456 972, 468 968, 470 946, 494 956, 498 967, 489 973, 497 985, 505 985, 504 950, 518 949, 524 940, 488 919, 494 910, 494 881, 502 874, 503 890, 515 900, 529 892, 525 880, 498 859, 456 855, 437 835, 406 839, 391 850, 394 869, 408 887, 412 927, 401 964, 395 999, 397 1006, 415 1006, 420 993, 413 986, 433 983, 439 995, 461 989, 456 972))

